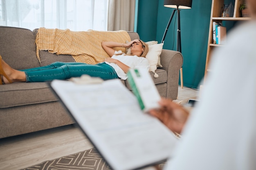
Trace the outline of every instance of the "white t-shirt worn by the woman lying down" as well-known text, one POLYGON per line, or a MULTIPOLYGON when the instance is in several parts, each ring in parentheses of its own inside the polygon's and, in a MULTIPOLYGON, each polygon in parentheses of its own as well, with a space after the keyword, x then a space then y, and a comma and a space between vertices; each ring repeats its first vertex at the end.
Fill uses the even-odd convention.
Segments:
MULTIPOLYGON (((119 54, 119 53, 122 53, 122 51, 121 50, 115 51, 115 54, 119 54)), ((111 57, 112 59, 117 59, 133 69, 142 67, 142 68, 146 68, 149 71, 150 65, 149 65, 148 59, 144 57, 137 57, 137 55, 130 56, 126 54, 121 54, 121 55, 115 55, 115 54, 111 57)), ((117 76, 119 76, 119 78, 121 78, 122 80, 126 80, 128 78, 124 70, 122 70, 117 64, 108 63, 108 62, 105 62, 105 63, 107 63, 108 65, 111 65, 117 72, 117 76)))

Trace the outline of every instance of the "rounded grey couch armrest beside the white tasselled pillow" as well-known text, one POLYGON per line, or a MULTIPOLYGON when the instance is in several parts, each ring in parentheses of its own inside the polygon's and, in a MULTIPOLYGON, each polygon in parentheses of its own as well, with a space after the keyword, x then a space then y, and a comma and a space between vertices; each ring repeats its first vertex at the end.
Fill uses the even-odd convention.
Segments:
POLYGON ((163 49, 160 55, 162 69, 167 71, 166 98, 177 99, 180 68, 183 56, 180 52, 163 49))

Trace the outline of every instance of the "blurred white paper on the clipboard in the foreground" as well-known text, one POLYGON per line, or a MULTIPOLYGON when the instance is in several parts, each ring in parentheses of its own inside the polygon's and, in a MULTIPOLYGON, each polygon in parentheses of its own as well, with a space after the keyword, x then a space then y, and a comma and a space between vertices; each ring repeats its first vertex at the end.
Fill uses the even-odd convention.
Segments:
POLYGON ((54 80, 50 87, 113 170, 138 169, 171 156, 178 137, 142 110, 121 80, 77 82, 54 80))

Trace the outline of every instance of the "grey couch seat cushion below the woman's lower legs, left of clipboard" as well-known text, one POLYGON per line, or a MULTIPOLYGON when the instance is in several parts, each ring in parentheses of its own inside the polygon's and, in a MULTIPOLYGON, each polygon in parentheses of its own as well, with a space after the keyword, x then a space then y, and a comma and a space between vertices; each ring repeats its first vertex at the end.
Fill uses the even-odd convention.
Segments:
POLYGON ((31 105, 57 101, 48 84, 43 83, 12 83, 1 85, 0 108, 31 105))

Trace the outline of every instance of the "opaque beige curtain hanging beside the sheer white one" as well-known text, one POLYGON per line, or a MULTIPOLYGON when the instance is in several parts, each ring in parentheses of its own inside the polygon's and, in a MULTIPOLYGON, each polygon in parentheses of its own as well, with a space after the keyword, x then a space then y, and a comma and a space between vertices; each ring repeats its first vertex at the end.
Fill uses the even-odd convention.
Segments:
POLYGON ((109 0, 108 31, 134 31, 135 0, 109 0))

